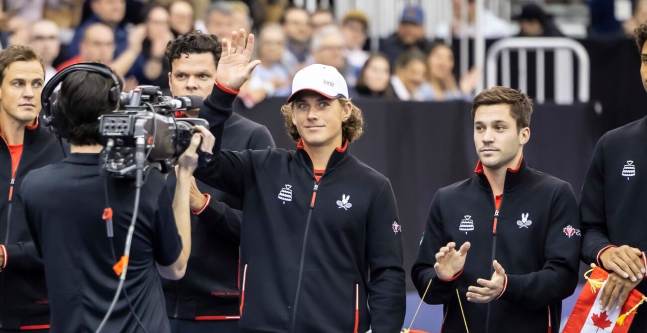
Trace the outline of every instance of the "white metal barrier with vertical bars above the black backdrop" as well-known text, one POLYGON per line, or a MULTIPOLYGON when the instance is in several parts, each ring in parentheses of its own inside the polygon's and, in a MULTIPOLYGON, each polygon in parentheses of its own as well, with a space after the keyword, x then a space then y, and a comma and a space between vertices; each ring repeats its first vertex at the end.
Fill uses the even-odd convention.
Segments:
POLYGON ((502 85, 510 86, 510 50, 518 50, 519 89, 527 91, 528 68, 527 51, 536 51, 536 102, 545 102, 545 51, 555 52, 555 102, 558 104, 573 103, 573 61, 575 54, 578 61, 578 100, 589 102, 589 85, 591 68, 589 54, 582 44, 570 38, 505 38, 496 41, 487 52, 487 87, 497 85, 499 72, 498 57, 501 56, 502 85), (571 53, 572 52, 572 53, 571 53))

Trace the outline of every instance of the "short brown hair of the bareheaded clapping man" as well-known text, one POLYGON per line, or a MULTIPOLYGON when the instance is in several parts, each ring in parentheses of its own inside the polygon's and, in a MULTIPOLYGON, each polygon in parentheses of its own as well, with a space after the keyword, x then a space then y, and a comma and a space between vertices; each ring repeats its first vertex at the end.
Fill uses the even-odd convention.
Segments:
POLYGON ((532 100, 523 92, 508 87, 492 87, 477 94, 472 102, 472 120, 480 106, 496 104, 510 105, 510 115, 517 121, 517 132, 530 127, 532 100))

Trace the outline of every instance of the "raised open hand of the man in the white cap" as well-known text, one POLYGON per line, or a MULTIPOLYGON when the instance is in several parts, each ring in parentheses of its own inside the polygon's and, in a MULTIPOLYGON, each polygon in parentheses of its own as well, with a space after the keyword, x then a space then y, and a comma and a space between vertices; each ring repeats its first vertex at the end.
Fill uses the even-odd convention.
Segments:
POLYGON ((245 29, 232 32, 231 42, 223 38, 223 53, 218 61, 215 77, 226 88, 237 91, 261 61, 249 62, 254 51, 254 34, 247 36, 245 29))

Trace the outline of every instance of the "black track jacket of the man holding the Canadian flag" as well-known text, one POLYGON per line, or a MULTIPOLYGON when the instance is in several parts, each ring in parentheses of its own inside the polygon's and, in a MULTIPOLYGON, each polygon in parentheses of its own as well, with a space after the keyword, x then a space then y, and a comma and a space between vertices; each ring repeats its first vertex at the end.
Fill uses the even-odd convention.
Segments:
MULTIPOLYGON (((647 250, 647 117, 604 134, 582 186, 582 260, 596 263, 608 246, 647 250)), ((644 259, 644 258, 643 258, 644 259)), ((645 279, 636 286, 647 295, 645 279)), ((639 311, 630 333, 647 332, 647 312, 639 311)))

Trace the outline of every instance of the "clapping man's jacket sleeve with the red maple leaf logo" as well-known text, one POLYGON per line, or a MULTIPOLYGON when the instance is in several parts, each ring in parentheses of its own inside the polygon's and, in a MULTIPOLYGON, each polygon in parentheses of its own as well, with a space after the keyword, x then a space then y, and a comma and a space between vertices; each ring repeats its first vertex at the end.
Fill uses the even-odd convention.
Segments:
MULTIPOLYGON (((507 275, 507 286, 499 299, 527 308, 559 303, 577 286, 580 236, 568 237, 564 228, 580 229, 580 217, 573 189, 567 183, 556 190, 547 226, 542 270, 523 275, 507 275)), ((505 269, 505 267, 503 267, 505 269)))

